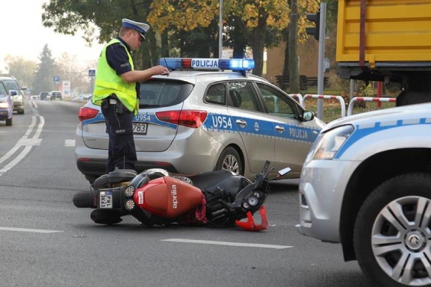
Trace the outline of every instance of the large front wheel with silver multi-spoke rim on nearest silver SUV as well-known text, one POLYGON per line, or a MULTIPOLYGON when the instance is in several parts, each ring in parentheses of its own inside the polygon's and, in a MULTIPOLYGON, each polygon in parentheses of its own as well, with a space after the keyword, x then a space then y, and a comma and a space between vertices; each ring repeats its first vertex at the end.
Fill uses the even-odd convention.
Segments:
POLYGON ((379 286, 431 286, 431 174, 378 186, 358 213, 354 246, 362 271, 379 286))

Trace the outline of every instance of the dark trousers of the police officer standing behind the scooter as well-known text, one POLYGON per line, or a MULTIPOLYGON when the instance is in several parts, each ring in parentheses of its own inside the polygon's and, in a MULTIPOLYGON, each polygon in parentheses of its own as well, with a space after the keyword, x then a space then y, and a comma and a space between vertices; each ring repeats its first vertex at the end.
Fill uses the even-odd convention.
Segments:
POLYGON ((135 170, 136 147, 133 139, 134 112, 124 108, 123 113, 116 111, 116 104, 102 104, 106 132, 109 135, 108 161, 106 174, 118 169, 135 170))

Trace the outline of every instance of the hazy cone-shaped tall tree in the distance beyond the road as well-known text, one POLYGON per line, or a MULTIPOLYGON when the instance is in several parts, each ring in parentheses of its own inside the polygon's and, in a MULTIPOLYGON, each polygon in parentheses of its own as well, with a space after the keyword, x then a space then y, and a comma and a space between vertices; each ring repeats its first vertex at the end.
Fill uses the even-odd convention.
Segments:
POLYGON ((45 44, 42 52, 39 55, 39 64, 37 65, 36 72, 33 80, 33 92, 38 94, 44 91, 55 90, 54 85, 54 69, 55 61, 52 58, 51 50, 48 44, 45 44))

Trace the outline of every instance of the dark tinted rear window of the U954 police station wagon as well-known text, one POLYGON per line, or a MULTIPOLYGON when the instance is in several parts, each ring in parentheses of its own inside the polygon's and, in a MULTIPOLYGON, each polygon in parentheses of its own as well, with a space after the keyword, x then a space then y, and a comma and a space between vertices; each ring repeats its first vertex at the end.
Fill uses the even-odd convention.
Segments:
POLYGON ((148 79, 141 83, 140 108, 167 107, 184 101, 193 85, 179 80, 148 79))

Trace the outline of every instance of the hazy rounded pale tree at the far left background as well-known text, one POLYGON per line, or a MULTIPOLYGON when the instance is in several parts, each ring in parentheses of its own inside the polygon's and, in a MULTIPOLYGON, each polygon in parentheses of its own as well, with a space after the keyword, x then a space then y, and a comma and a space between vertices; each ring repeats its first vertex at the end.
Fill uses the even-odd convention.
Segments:
POLYGON ((13 57, 11 55, 5 57, 5 63, 8 74, 16 77, 21 86, 30 89, 37 63, 35 61, 26 60, 23 57, 13 57))

